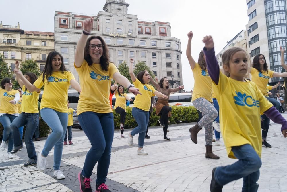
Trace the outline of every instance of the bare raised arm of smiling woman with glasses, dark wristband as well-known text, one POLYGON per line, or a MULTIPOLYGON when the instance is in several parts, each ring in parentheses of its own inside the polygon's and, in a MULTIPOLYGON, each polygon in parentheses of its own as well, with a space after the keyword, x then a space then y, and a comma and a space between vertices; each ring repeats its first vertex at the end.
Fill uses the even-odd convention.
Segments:
POLYGON ((75 65, 81 67, 84 61, 84 48, 88 39, 88 35, 91 33, 93 28, 93 18, 85 20, 83 23, 83 34, 81 35, 75 53, 75 65))

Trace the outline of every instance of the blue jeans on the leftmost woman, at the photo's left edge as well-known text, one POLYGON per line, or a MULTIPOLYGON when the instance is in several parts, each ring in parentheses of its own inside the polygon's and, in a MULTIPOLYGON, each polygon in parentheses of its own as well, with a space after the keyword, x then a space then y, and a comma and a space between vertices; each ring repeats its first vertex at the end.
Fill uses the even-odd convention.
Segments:
POLYGON ((13 145, 14 145, 14 138, 13 138, 13 132, 11 130, 11 123, 13 122, 14 119, 16 119, 17 116, 15 115, 11 115, 11 114, 4 114, 0 116, 0 123, 3 125, 3 141, 8 141, 8 152, 11 152, 13 149, 13 145))

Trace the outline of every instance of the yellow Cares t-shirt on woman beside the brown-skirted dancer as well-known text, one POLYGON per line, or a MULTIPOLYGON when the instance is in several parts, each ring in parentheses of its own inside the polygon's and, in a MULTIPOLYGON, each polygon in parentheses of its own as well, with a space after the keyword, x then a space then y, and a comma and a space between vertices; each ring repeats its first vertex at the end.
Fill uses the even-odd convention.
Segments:
POLYGON ((150 110, 151 98, 154 96, 156 91, 152 85, 142 84, 138 79, 133 82, 136 88, 139 89, 142 95, 138 94, 135 96, 135 101, 133 102, 133 107, 137 107, 144 111, 150 110))

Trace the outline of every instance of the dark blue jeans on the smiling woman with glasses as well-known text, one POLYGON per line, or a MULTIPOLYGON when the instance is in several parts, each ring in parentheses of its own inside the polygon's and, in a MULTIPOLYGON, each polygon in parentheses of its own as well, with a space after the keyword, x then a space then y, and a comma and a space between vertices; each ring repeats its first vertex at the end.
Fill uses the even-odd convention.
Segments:
POLYGON ((96 184, 100 185, 106 182, 110 166, 110 151, 114 137, 114 115, 113 113, 87 111, 78 115, 78 119, 92 145, 86 155, 82 175, 90 178, 98 162, 96 184))

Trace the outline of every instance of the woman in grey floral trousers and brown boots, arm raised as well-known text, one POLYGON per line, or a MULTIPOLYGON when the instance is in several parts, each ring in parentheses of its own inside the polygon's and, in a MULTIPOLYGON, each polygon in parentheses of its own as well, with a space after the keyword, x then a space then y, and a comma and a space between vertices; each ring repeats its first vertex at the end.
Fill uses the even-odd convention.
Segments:
POLYGON ((194 61, 191 56, 191 39, 193 37, 192 31, 187 33, 187 49, 186 56, 191 67, 194 87, 192 93, 193 106, 201 111, 202 118, 197 124, 189 129, 190 138, 192 142, 197 143, 197 133, 204 126, 205 129, 205 158, 219 159, 217 155, 212 152, 212 123, 216 119, 218 113, 212 102, 212 86, 210 75, 208 74, 205 55, 203 51, 199 53, 198 63, 194 61))

